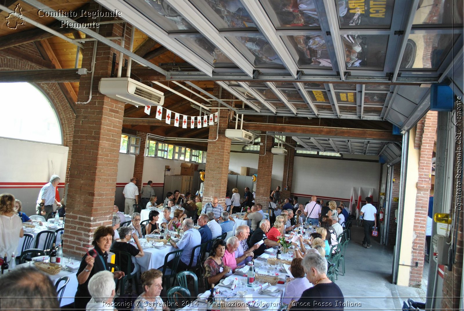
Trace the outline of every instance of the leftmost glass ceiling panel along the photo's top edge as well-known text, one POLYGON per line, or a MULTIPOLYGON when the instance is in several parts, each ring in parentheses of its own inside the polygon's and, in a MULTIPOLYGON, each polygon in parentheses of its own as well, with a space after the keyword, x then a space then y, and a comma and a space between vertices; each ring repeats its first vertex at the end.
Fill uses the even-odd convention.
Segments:
POLYGON ((166 32, 176 32, 179 30, 195 30, 187 20, 185 20, 173 7, 163 0, 127 0, 132 7, 153 20, 166 32))

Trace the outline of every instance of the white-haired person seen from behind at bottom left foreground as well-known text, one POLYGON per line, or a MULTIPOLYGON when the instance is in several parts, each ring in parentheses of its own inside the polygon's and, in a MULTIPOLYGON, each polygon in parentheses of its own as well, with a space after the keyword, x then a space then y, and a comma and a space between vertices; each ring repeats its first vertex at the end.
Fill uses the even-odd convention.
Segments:
POLYGON ((116 294, 116 283, 113 273, 107 270, 95 273, 90 278, 88 288, 92 298, 87 303, 87 311, 116 310, 111 306, 116 294))

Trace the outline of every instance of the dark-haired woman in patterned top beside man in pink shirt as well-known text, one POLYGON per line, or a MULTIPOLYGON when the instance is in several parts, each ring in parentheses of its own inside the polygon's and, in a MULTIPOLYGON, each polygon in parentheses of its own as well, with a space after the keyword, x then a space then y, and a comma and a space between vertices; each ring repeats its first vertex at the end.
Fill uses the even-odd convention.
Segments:
MULTIPOLYGON (((231 271, 231 269, 224 265, 222 257, 226 253, 226 242, 221 239, 214 241, 211 247, 210 256, 205 260, 205 280, 209 284, 218 284, 219 280, 231 271)), ((206 284, 206 282, 205 282, 206 284)), ((208 286, 206 286, 208 287, 208 286)))

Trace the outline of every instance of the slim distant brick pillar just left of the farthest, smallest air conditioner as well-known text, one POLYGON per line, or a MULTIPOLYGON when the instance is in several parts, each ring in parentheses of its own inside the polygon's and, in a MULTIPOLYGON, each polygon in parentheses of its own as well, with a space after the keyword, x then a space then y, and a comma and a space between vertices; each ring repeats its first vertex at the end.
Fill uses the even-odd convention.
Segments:
MULTIPOLYGON (((273 142, 274 138, 272 136, 268 135, 266 139, 265 135, 261 135, 263 145, 259 147, 255 203, 260 203, 263 206, 268 205, 269 194, 271 193, 272 161, 274 159, 271 148, 273 142)), ((282 195, 280 197, 283 198, 282 195)))

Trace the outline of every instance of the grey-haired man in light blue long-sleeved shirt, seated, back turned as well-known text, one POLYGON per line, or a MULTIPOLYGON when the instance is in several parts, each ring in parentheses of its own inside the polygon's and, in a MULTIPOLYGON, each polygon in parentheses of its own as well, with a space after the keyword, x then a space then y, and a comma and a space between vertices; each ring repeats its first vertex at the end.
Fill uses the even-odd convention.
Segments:
MULTIPOLYGON (((184 250, 180 256, 178 271, 187 270, 190 258, 192 257, 193 247, 201 244, 200 232, 193 228, 193 220, 191 218, 184 219, 182 222, 182 230, 184 231, 184 235, 177 243, 173 241, 169 234, 166 235, 169 244, 174 248, 184 250)), ((198 249, 197 251, 200 252, 198 249)), ((195 253, 195 256, 193 256, 192 265, 197 264, 197 255, 198 253, 195 253)))

